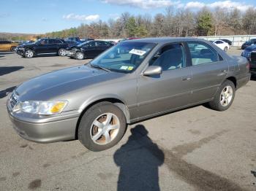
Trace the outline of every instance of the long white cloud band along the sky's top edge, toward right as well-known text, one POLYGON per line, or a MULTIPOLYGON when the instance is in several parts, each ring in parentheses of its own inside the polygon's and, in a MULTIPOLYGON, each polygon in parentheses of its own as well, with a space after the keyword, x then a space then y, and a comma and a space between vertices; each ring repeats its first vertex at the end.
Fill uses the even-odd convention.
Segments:
POLYGON ((213 3, 204 3, 204 1, 189 1, 186 4, 181 3, 181 1, 172 1, 172 0, 104 0, 103 2, 107 4, 116 4, 121 6, 130 6, 138 7, 142 9, 154 9, 161 7, 177 7, 177 8, 189 8, 189 9, 200 9, 203 7, 208 7, 214 9, 216 7, 223 7, 225 9, 234 9, 237 8, 242 12, 249 9, 249 7, 254 7, 251 4, 246 4, 243 1, 215 1, 213 3))

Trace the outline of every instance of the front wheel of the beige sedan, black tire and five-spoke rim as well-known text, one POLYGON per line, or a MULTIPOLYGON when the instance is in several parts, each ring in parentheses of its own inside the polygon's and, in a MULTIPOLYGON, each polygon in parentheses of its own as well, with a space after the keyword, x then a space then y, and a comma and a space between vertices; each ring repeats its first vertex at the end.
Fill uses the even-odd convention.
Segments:
POLYGON ((116 145, 126 129, 127 121, 121 109, 109 102, 102 102, 91 106, 83 114, 78 139, 87 149, 102 151, 116 145))

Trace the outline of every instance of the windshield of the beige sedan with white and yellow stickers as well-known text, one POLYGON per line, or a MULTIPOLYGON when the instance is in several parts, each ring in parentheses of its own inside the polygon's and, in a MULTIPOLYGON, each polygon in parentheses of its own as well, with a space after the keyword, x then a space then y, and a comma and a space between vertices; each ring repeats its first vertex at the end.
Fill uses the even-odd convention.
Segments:
POLYGON ((129 73, 140 66, 155 45, 147 42, 121 42, 91 61, 91 65, 129 73))

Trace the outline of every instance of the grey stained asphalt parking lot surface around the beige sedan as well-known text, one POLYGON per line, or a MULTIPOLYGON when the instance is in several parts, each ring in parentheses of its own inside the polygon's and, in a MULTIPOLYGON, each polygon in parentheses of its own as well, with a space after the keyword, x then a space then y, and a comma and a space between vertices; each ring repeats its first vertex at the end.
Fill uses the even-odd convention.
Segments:
POLYGON ((31 77, 86 62, 0 52, 0 190, 256 190, 254 80, 226 112, 196 106, 129 125, 104 152, 79 141, 21 139, 7 117, 6 93, 31 77))

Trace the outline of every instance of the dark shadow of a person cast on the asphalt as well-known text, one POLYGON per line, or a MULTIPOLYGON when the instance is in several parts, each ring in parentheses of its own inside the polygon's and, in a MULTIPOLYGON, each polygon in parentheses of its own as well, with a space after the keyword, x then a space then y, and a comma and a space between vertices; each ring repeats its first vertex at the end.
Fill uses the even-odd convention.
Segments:
POLYGON ((158 168, 164 163, 164 152, 148 137, 143 125, 136 125, 131 133, 113 155, 120 167, 117 190, 160 190, 158 168))

